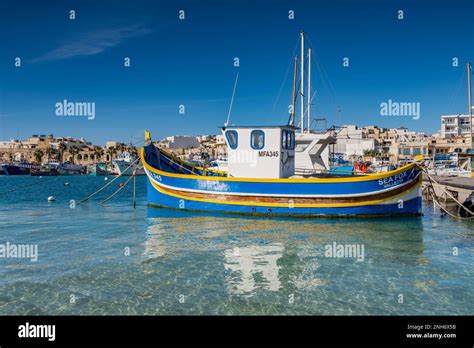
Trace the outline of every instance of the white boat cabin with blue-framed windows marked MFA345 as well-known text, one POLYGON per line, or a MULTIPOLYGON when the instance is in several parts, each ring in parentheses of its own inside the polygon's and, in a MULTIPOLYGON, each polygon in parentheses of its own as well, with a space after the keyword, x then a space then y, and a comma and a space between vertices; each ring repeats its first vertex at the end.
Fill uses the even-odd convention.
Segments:
POLYGON ((292 126, 223 127, 228 175, 236 178, 288 178, 295 174, 292 126))

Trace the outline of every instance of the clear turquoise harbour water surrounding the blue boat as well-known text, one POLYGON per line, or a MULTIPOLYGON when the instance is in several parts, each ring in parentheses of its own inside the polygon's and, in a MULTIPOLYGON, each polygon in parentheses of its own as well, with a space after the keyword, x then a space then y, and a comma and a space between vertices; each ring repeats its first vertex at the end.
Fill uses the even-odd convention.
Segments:
POLYGON ((38 246, 36 262, 0 258, 0 314, 474 314, 474 222, 431 206, 392 219, 198 214, 148 208, 140 177, 136 209, 131 185, 70 208, 104 183, 0 177, 0 244, 38 246), (363 260, 327 257, 334 242, 363 246, 363 260))

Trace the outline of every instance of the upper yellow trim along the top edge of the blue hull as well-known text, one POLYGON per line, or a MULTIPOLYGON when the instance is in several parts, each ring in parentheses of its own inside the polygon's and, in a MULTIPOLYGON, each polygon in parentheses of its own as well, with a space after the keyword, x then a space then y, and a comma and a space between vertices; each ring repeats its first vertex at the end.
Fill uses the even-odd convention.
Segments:
POLYGON ((307 178, 307 179, 291 179, 291 178, 284 178, 284 179, 262 179, 262 178, 229 178, 229 177, 218 177, 218 176, 201 176, 201 175, 191 175, 191 174, 175 174, 165 172, 156 168, 153 168, 145 161, 145 149, 140 149, 140 159, 145 166, 145 168, 155 174, 163 175, 171 178, 181 178, 181 179, 193 179, 193 180, 211 180, 211 181, 237 181, 237 182, 274 182, 274 183, 341 183, 341 182, 360 182, 360 181, 372 181, 378 179, 384 179, 390 177, 392 175, 399 174, 410 167, 416 166, 416 164, 411 163, 407 164, 403 167, 398 169, 385 172, 385 173, 376 173, 376 174, 367 174, 363 176, 353 176, 349 178, 307 178))

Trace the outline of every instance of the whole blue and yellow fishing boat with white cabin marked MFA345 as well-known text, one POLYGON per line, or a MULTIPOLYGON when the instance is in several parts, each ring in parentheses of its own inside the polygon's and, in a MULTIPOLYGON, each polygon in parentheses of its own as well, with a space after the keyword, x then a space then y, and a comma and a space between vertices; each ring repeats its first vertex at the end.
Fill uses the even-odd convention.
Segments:
MULTIPOLYGON (((302 47, 303 37, 302 33, 302 47)), ((227 122, 221 127, 227 145, 227 171, 184 162, 156 146, 145 131, 140 158, 147 175, 148 204, 190 211, 295 217, 420 215, 422 169, 416 163, 374 174, 296 172, 297 143, 319 140, 308 135, 309 121, 305 130, 304 112, 301 127, 295 127, 296 69, 294 75, 288 124, 230 127, 229 110, 227 122)), ((301 108, 303 105, 304 98, 301 108)), ((308 102, 308 117, 309 107, 308 102)))

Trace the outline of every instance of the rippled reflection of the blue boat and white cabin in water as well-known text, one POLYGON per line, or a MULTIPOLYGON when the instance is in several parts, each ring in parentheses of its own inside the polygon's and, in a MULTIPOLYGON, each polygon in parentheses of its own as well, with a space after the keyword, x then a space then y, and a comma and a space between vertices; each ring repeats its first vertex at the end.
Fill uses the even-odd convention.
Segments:
MULTIPOLYGON (((222 300, 265 293, 283 302, 289 294, 324 299, 346 297, 346 287, 385 293, 387 286, 397 286, 392 282, 401 270, 430 265, 422 233, 419 218, 315 221, 149 208, 143 256, 147 272, 172 283, 175 277, 200 283, 202 301, 208 289, 222 300), (363 261, 327 257, 325 248, 333 243, 363 245, 363 261)), ((416 285, 414 278, 406 281, 416 285)))

